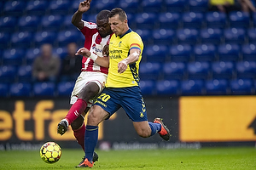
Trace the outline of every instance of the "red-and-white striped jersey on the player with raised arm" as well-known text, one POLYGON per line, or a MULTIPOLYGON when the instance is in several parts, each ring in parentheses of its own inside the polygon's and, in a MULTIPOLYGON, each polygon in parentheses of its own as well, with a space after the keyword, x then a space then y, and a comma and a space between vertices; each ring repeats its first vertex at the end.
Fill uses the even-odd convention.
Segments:
MULTIPOLYGON (((85 37, 84 48, 89 49, 90 53, 103 57, 102 49, 109 43, 111 35, 101 37, 96 27, 95 23, 84 21, 84 28, 80 31, 85 37)), ((97 65, 94 60, 86 57, 82 59, 82 71, 100 71, 108 74, 108 68, 97 65)))

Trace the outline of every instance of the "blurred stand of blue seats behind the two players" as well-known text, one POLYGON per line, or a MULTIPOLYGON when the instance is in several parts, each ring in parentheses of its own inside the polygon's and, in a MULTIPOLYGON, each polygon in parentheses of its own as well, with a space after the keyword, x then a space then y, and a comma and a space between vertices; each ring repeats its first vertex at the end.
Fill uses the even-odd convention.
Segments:
MULTIPOLYGON (((70 96, 74 82, 32 82, 32 62, 44 42, 61 59, 67 43, 83 46, 71 23, 79 2, 0 2, 0 97, 70 96)), ((83 18, 114 7, 143 38, 143 94, 255 94, 256 13, 209 11, 208 0, 94 0, 83 18)))

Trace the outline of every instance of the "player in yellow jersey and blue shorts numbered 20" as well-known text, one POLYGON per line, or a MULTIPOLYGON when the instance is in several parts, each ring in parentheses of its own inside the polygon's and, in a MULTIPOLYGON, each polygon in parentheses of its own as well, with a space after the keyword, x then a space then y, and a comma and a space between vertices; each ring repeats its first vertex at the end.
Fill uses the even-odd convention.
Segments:
POLYGON ((98 124, 108 119, 122 107, 133 122, 138 135, 143 138, 159 133, 169 140, 170 133, 160 118, 148 122, 143 96, 139 88, 138 69, 142 59, 142 38, 128 26, 127 16, 121 8, 113 8, 108 23, 114 35, 109 42, 109 60, 80 48, 77 54, 90 57, 100 65, 109 62, 106 88, 96 99, 88 115, 84 147, 85 160, 81 167, 93 167, 92 156, 98 139, 98 124))

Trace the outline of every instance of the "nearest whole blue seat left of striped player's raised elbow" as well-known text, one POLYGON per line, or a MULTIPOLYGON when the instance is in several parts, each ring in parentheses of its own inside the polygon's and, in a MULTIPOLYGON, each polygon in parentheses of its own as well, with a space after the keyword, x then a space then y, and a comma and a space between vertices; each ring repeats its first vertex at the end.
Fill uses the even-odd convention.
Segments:
POLYGON ((61 15, 44 15, 42 17, 41 26, 44 31, 57 31, 63 22, 61 15))

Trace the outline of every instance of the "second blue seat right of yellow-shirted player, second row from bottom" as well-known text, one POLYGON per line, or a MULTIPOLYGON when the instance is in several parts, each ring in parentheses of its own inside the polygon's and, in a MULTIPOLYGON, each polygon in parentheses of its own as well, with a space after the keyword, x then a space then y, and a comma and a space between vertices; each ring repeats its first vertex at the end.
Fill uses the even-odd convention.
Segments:
POLYGON ((187 73, 185 62, 167 62, 163 65, 164 78, 182 80, 187 73))

